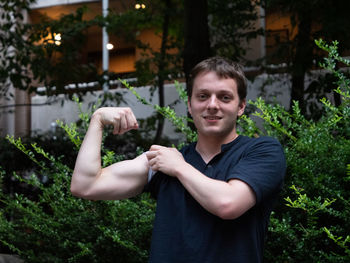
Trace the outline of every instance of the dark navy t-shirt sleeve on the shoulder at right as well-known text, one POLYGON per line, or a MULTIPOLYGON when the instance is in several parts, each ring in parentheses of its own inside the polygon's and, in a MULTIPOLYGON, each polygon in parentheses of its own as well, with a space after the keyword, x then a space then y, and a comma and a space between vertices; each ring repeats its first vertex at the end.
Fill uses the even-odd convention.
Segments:
POLYGON ((257 204, 280 192, 286 170, 281 144, 270 137, 260 137, 249 145, 227 177, 247 183, 255 192, 257 204))

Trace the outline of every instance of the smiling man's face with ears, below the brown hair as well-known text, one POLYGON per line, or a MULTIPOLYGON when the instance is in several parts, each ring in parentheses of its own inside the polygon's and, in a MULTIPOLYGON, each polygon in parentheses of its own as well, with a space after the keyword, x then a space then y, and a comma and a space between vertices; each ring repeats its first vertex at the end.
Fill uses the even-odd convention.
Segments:
POLYGON ((237 117, 243 114, 245 105, 245 100, 239 99, 235 80, 219 78, 215 72, 198 75, 188 101, 198 138, 220 136, 226 142, 233 140, 237 117))

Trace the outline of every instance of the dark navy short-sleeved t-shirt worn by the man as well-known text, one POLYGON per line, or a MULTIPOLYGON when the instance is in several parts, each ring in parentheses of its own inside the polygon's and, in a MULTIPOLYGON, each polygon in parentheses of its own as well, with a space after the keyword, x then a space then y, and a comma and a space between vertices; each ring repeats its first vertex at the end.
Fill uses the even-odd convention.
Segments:
POLYGON ((157 199, 150 262, 262 262, 269 216, 285 174, 281 145, 270 137, 239 136, 207 164, 195 147, 181 150, 188 163, 213 179, 246 182, 256 205, 237 219, 223 220, 205 210, 176 178, 156 173, 145 188, 157 199))

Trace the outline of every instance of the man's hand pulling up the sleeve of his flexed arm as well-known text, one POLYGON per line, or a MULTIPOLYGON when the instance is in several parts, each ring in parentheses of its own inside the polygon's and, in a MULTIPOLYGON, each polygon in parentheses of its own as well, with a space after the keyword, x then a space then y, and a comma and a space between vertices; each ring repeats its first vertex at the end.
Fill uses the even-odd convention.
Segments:
POLYGON ((153 171, 161 171, 169 176, 174 176, 186 165, 182 154, 175 148, 152 145, 146 152, 148 164, 153 171))

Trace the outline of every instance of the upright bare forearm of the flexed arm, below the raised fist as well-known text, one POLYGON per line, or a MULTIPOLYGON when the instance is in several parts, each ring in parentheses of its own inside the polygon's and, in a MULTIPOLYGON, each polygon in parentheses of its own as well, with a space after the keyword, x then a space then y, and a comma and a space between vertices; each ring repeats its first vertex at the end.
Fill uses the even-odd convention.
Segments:
POLYGON ((101 142, 103 126, 98 116, 92 116, 80 147, 71 181, 73 194, 82 195, 101 173, 101 142))

